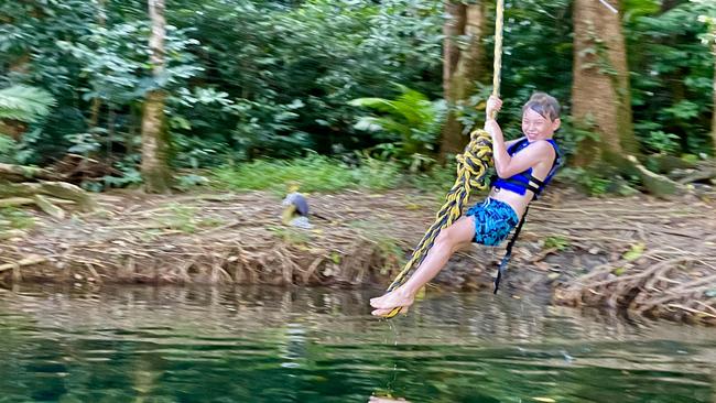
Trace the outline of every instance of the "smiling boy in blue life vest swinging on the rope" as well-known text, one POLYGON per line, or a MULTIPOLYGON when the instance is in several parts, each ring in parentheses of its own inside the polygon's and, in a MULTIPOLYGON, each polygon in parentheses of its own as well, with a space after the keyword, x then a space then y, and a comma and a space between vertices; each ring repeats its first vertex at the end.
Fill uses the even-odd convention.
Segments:
MULTIPOLYGON (((500 244, 518 224, 521 227, 528 205, 554 175, 560 165, 560 150, 552 140, 561 124, 557 100, 544 92, 532 95, 522 107, 524 137, 509 142, 505 142, 502 130, 493 119, 501 107, 502 101, 496 96, 491 96, 487 101, 485 131, 492 138, 492 159, 497 171, 489 196, 440 232, 425 259, 405 283, 370 299, 370 305, 376 308, 373 315, 392 316, 390 314, 394 314, 395 309, 406 312, 417 291, 431 281, 460 248, 470 242, 500 244)), ((516 236, 518 231, 519 228, 516 236)), ((508 246, 506 259, 509 259, 510 250, 511 244, 508 246)), ((496 287, 497 284, 498 282, 496 287)))

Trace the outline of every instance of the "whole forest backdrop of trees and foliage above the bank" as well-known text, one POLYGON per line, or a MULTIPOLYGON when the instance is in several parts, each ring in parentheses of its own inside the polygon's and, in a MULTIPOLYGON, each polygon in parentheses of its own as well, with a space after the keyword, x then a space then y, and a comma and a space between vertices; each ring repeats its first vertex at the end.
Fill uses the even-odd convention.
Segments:
MULTIPOLYGON (((502 127, 555 96, 562 178, 596 194, 643 189, 627 154, 666 175, 716 142, 716 3, 506 3, 502 127)), ((3 1, 0 163, 91 160, 90 190, 434 176, 482 124, 493 24, 484 1, 3 1)))

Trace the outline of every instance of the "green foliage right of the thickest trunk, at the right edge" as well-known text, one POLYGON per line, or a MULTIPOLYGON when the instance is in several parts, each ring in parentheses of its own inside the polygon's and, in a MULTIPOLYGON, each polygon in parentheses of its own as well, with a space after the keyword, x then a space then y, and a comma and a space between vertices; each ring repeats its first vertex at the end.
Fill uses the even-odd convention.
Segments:
POLYGON ((626 24, 634 131, 646 151, 680 155, 710 149, 714 55, 708 25, 716 3, 636 9, 626 24), (701 17, 701 18, 699 18, 701 17), (699 42, 699 37, 705 43, 699 42))

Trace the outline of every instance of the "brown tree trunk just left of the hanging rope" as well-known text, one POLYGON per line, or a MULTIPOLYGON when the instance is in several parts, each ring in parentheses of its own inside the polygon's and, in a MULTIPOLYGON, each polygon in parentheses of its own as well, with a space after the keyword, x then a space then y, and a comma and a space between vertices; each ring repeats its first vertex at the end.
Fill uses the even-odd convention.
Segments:
MULTIPOLYGON (((443 48, 443 91, 447 104, 455 107, 469 98, 475 80, 481 74, 482 46, 480 37, 485 26, 482 4, 463 4, 445 1, 449 18, 443 25, 445 35, 443 48), (456 41, 467 37, 467 47, 460 50, 456 41)), ((459 153, 469 139, 463 135, 463 124, 454 112, 449 112, 443 127, 441 156, 459 153)))

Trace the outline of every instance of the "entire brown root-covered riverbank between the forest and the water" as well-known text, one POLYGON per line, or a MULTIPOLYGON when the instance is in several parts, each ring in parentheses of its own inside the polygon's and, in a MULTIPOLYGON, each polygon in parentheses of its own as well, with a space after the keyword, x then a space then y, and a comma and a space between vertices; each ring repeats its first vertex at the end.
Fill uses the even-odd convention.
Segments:
MULTIPOLYGON (((281 197, 267 192, 100 194, 93 213, 34 214, 31 229, 6 231, 0 280, 78 287, 387 284, 432 224, 440 196, 411 189, 310 195, 319 217, 303 230, 281 224, 281 197)), ((714 211, 705 197, 589 198, 551 189, 531 208, 503 293, 551 293, 558 304, 716 324, 714 211)), ((489 288, 502 252, 473 246, 435 285, 489 288)))

